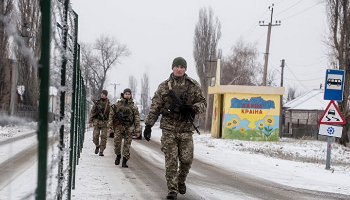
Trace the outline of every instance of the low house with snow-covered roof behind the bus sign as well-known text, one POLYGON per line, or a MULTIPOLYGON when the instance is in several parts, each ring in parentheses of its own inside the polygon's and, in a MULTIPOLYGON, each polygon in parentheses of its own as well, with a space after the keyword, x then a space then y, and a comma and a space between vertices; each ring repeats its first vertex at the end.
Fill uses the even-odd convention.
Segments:
POLYGON ((284 104, 282 135, 319 139, 317 122, 330 102, 323 95, 323 89, 314 89, 284 104))

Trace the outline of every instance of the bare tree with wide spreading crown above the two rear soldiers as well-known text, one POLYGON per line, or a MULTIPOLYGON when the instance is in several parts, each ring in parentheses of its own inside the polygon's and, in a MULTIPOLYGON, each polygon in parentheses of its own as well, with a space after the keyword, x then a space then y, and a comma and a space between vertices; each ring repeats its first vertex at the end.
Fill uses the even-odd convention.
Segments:
POLYGON ((100 36, 92 45, 81 49, 82 72, 92 96, 98 96, 105 87, 108 70, 130 55, 126 45, 109 36, 100 36))

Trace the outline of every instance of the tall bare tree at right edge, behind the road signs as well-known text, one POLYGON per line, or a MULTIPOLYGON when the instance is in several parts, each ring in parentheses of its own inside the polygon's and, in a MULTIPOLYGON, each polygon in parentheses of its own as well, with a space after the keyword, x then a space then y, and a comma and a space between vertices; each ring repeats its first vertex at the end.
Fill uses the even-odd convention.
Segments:
MULTIPOLYGON (((327 19, 330 29, 329 47, 335 69, 345 70, 344 97, 339 101, 339 109, 350 120, 350 3, 349 0, 327 0, 327 19), (335 58, 335 59, 334 59, 335 58)), ((347 146, 350 138, 350 123, 345 125, 339 143, 347 146)))

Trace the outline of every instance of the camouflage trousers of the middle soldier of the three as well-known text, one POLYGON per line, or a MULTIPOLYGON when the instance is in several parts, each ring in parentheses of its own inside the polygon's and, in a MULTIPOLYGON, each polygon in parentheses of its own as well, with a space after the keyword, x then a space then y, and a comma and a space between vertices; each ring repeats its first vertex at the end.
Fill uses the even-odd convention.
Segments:
POLYGON ((114 129, 114 153, 116 155, 121 154, 122 142, 123 143, 123 157, 126 160, 130 159, 130 146, 132 142, 132 133, 127 130, 124 131, 121 127, 116 127, 114 129))

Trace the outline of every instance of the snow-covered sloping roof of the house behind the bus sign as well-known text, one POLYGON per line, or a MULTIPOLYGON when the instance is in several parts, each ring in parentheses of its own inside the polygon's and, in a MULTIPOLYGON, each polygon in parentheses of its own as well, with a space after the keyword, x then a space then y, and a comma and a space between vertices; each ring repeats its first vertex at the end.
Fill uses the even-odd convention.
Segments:
POLYGON ((290 102, 287 102, 283 105, 283 107, 285 107, 287 110, 325 110, 329 104, 329 100, 324 100, 323 94, 323 89, 314 89, 298 96, 290 102))

